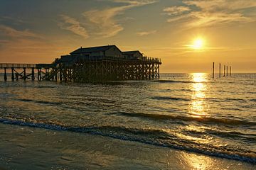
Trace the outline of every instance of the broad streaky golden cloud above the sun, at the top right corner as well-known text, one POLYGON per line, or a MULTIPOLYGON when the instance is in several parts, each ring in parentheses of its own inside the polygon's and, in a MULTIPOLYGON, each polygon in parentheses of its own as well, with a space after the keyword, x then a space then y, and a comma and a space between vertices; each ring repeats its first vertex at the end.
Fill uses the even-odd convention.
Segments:
POLYGON ((186 26, 193 28, 255 21, 245 13, 245 9, 255 7, 255 0, 189 0, 183 1, 183 6, 171 6, 163 11, 170 16, 168 22, 183 21, 186 26))

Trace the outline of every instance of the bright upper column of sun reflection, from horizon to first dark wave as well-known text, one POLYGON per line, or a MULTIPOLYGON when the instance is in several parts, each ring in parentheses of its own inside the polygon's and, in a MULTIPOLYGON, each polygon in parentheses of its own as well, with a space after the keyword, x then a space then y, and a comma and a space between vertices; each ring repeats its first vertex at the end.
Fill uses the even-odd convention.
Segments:
POLYGON ((191 80, 193 84, 191 85, 191 90, 193 91, 191 95, 191 103, 189 106, 189 113, 193 117, 201 118, 206 115, 205 111, 205 98, 206 94, 206 73, 193 73, 191 74, 191 80))

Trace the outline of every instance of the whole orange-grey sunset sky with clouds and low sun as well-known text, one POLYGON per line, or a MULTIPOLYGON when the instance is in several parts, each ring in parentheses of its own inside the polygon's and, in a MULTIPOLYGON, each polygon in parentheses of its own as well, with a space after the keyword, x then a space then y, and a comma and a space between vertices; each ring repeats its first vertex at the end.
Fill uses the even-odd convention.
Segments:
POLYGON ((256 72, 256 1, 0 0, 0 62, 100 45, 159 57, 161 72, 256 72))

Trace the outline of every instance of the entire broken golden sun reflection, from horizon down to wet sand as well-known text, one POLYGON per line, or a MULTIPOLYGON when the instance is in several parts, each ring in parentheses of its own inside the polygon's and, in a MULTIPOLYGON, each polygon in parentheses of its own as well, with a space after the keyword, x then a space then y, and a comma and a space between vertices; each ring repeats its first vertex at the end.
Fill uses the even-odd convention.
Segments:
MULTIPOLYGON (((189 104, 188 113, 198 119, 203 119, 208 115, 206 111, 206 91, 207 74, 193 73, 191 74, 191 103, 189 104)), ((204 132, 207 128, 203 125, 187 125, 186 130, 191 132, 204 132)), ((208 144, 212 139, 209 136, 187 135, 186 139, 197 142, 198 144, 208 144)), ((198 154, 184 153, 183 159, 191 169, 210 169, 213 164, 212 159, 198 154)))

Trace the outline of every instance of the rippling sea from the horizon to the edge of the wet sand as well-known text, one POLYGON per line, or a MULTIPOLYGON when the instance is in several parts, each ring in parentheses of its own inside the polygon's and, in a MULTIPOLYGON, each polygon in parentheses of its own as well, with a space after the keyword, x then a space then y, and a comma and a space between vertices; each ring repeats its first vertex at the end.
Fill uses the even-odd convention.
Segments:
POLYGON ((256 164, 255 84, 256 74, 214 80, 161 74, 160 80, 107 84, 0 81, 0 123, 256 164))

